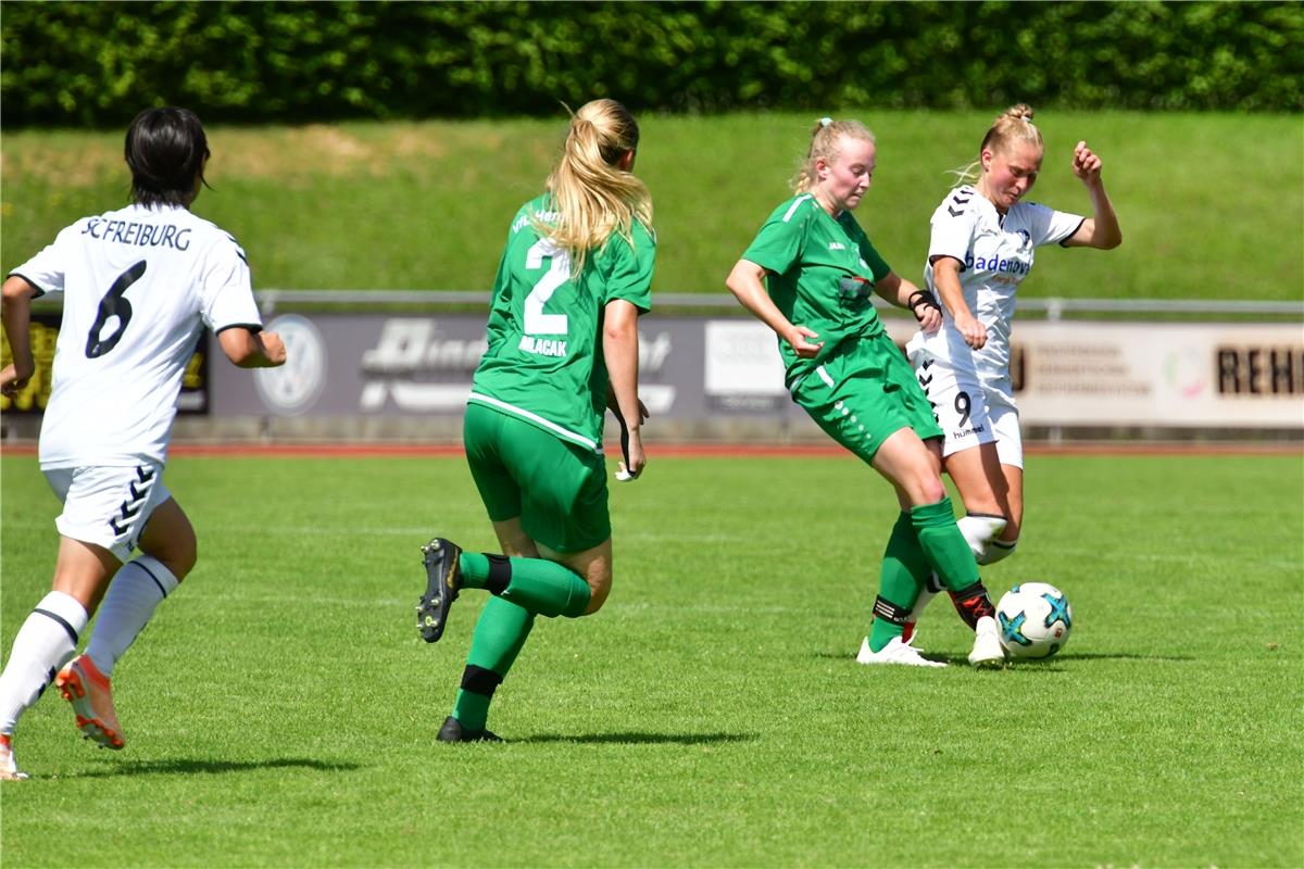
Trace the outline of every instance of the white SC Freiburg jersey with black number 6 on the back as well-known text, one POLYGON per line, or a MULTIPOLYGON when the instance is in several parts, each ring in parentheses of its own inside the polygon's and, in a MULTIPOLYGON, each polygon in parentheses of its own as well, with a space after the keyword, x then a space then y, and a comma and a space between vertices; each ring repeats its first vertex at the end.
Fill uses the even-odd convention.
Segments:
POLYGON ((82 218, 10 274, 64 293, 42 468, 163 463, 203 327, 262 326, 244 250, 181 207, 82 218))

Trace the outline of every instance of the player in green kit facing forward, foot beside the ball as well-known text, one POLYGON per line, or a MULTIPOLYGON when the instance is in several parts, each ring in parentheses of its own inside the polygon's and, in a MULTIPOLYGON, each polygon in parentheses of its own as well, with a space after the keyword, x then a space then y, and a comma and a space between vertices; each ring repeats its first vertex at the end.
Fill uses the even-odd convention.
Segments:
POLYGON ((793 400, 896 489, 901 515, 857 661, 944 666, 902 638, 936 572, 974 628, 969 662, 1001 667, 995 610, 941 483, 941 429, 870 300, 876 293, 911 309, 925 330, 941 324, 936 300, 893 272, 852 216, 876 158, 865 125, 822 119, 793 185, 797 195, 775 208, 725 283, 778 335, 793 400))

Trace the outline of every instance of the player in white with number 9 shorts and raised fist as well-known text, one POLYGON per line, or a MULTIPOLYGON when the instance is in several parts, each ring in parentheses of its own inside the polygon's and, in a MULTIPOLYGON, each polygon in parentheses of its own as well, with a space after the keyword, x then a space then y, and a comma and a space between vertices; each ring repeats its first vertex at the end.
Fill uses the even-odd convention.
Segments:
POLYGON ((1123 241, 1101 159, 1086 142, 1073 149, 1072 169, 1086 186, 1093 216, 1024 201, 1043 151, 1028 106, 1007 109, 987 130, 978 160, 961 173, 968 181, 977 169, 977 178, 948 193, 932 214, 925 280, 940 300, 943 327, 906 345, 945 433, 943 463, 965 502, 960 528, 979 564, 1009 555, 1022 526, 1024 447, 1009 334, 1033 251, 1055 242, 1103 250, 1123 241))

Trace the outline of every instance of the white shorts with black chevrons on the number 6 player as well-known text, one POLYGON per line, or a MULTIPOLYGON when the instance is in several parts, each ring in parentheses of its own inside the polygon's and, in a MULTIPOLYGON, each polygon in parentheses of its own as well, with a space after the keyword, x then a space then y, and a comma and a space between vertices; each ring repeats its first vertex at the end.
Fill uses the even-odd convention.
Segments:
POLYGON ((154 508, 172 494, 163 485, 163 465, 124 468, 42 468, 64 504, 55 528, 64 537, 103 546, 128 562, 154 508))

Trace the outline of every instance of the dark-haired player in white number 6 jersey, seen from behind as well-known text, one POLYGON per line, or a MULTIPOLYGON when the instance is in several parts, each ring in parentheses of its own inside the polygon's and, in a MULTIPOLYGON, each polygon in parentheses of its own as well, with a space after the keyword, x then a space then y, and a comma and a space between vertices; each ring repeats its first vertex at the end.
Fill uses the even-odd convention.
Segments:
POLYGON ((240 245, 189 211, 209 159, 200 119, 184 108, 141 112, 125 158, 133 205, 65 228, 3 288, 13 350, 0 371, 7 395, 35 371, 31 300, 64 294, 40 429, 40 469, 64 507, 59 555, 53 590, 23 621, 0 674, 3 779, 26 778, 13 731, 52 680, 87 739, 123 747, 113 664, 196 560, 194 529, 163 485, 163 465, 181 375, 203 328, 241 367, 286 361, 280 337, 261 331, 240 245), (96 608, 86 651, 73 658, 96 608))

